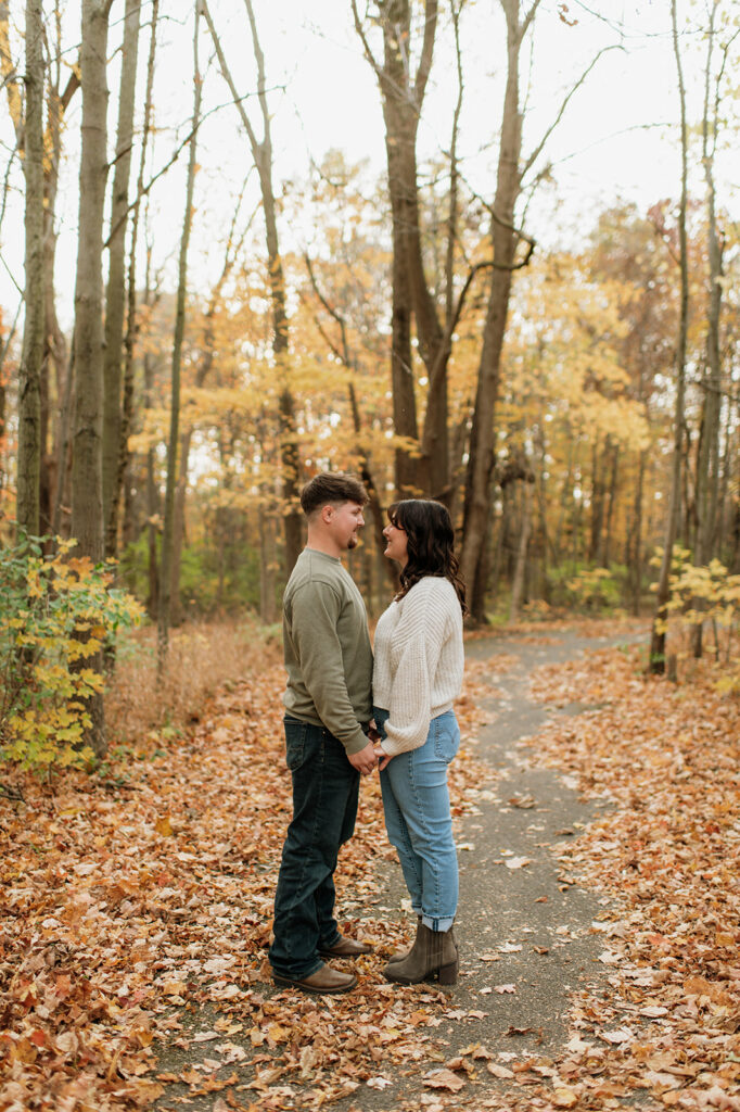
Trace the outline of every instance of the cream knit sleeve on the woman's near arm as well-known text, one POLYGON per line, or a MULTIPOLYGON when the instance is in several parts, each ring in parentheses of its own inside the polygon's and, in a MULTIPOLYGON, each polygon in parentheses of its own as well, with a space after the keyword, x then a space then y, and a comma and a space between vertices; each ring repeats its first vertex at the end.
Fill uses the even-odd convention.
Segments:
POLYGON ((431 685, 444 643, 447 616, 429 593, 407 597, 394 634, 400 651, 382 747, 389 756, 423 745, 431 722, 431 685))

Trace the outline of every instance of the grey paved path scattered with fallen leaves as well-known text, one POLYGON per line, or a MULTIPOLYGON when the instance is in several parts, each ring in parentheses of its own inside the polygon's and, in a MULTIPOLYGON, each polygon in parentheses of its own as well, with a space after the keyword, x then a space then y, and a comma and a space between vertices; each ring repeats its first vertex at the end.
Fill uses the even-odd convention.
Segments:
MULTIPOLYGON (((456 833, 460 860, 456 933, 461 975, 441 1007, 437 986, 399 990, 418 993, 420 1006, 424 994, 436 1001, 437 1025, 428 1032, 437 1044, 434 1054, 420 1051, 419 1059, 409 1062, 401 1074, 392 1068, 383 1070, 380 1062, 370 1084, 362 1084, 332 1108, 340 1112, 437 1112, 442 1106, 469 1106, 478 1112, 488 1096, 504 1093, 508 1084, 506 1078, 487 1071, 486 1061, 473 1063, 474 1080, 454 1098, 449 1092, 423 1089, 421 1079, 471 1044, 480 1044, 488 1061, 504 1072, 514 1058, 531 1052, 541 1059, 560 1050, 568 1040, 572 994, 587 984, 606 984, 609 971, 597 961, 603 939, 592 924, 607 904, 598 893, 570 883, 557 860, 558 843, 578 837, 600 807, 580 801, 567 776, 537 767, 537 748, 523 739, 533 737, 550 715, 586 709, 578 704, 552 708, 534 702, 529 677, 537 667, 634 639, 633 634, 584 637, 560 631, 539 639, 509 636, 468 644, 468 657, 490 659, 492 674, 499 671, 498 656, 506 656, 510 666, 496 678, 501 694, 484 703, 490 718, 476 743, 476 755, 490 767, 490 781, 473 791, 474 813, 458 821, 456 833)), ((398 865, 383 866, 379 892, 370 906, 362 909, 364 914, 386 921, 401 914, 406 890, 398 865)), ((351 893, 343 893, 343 898, 338 909, 340 919, 357 916, 351 893)), ((271 994, 269 990, 266 996, 271 994)), ((191 1037, 213 1017, 201 1012, 192 1021, 191 1037)), ((252 1048, 244 1049, 251 1058, 252 1048)), ((188 1051, 173 1048, 160 1056, 159 1065, 177 1072, 187 1062, 188 1051)), ((239 1094, 242 1100, 244 1095, 239 1094)), ((246 1104, 250 1112, 276 1106, 261 1103, 257 1093, 246 1104)), ((184 1096, 182 1085, 168 1085, 158 1105, 194 1112, 224 1112, 228 1108, 217 1094, 184 1096)))

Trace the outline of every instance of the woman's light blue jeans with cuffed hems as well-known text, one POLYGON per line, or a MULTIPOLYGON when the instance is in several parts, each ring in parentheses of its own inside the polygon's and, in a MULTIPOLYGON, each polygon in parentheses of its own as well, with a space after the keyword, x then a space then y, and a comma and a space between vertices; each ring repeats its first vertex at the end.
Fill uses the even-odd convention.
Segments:
MULTIPOLYGON (((388 711, 373 707, 381 737, 388 711)), ((411 906, 432 931, 449 931, 458 906, 458 855, 452 840, 447 766, 460 748, 453 711, 432 718, 427 741, 393 757, 380 774, 386 828, 396 846, 411 906)))

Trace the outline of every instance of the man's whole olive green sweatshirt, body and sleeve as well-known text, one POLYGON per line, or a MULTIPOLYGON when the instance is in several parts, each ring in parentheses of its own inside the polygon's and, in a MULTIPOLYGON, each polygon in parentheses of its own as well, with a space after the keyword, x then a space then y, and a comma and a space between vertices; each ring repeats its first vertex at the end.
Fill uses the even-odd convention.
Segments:
POLYGON ((348 755, 368 744, 372 649, 362 596, 340 559, 304 548, 282 599, 288 714, 324 726, 348 755))

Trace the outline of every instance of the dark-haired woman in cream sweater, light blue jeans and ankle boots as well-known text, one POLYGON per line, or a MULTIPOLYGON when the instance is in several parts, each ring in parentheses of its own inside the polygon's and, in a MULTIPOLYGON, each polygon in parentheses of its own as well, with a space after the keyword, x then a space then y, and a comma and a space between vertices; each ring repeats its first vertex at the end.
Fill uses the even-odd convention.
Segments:
POLYGON ((402 984, 430 975, 454 984, 458 858, 447 766, 460 745, 452 703, 462 682, 464 587, 444 506, 410 498, 391 506, 388 520, 384 555, 401 565, 401 589, 376 629, 376 753, 388 836, 417 913, 417 937, 383 973, 402 984))

